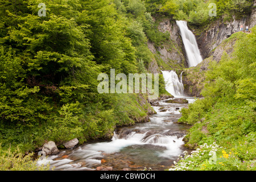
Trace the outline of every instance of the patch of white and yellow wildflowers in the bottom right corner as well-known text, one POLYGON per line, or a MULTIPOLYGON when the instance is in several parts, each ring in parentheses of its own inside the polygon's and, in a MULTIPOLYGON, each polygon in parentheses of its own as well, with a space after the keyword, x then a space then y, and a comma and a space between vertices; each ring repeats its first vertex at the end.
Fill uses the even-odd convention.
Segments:
MULTIPOLYGON (((254 141, 255 146, 255 141, 254 141)), ((175 162, 176 163, 176 162, 175 162)), ((180 160, 169 171, 254 171, 255 162, 241 161, 233 148, 230 151, 212 144, 204 143, 191 154, 184 152, 180 160)))

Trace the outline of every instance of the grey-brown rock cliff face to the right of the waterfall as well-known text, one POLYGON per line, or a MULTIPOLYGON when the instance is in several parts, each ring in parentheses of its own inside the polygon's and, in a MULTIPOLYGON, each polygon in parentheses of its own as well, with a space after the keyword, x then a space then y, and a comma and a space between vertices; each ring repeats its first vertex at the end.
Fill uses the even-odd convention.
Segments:
POLYGON ((208 69, 210 61, 220 61, 224 52, 232 57, 236 37, 228 39, 232 34, 240 31, 240 26, 252 28, 256 24, 256 1, 250 15, 240 20, 233 19, 230 22, 218 20, 212 23, 206 31, 197 35, 201 55, 204 61, 197 67, 186 69, 183 73, 183 84, 185 93, 189 96, 200 97, 204 88, 204 73, 208 69), (226 40, 226 41, 225 41, 226 40))

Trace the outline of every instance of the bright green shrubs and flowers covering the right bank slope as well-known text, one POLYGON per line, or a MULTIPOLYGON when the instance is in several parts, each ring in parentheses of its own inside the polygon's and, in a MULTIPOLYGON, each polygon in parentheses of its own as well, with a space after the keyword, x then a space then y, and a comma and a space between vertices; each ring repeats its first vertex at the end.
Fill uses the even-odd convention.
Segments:
POLYGON ((184 138, 185 146, 199 150, 173 169, 255 170, 256 27, 251 31, 225 40, 237 39, 233 55, 224 53, 220 63, 210 64, 201 93, 204 98, 181 111, 179 122, 193 125, 184 138))

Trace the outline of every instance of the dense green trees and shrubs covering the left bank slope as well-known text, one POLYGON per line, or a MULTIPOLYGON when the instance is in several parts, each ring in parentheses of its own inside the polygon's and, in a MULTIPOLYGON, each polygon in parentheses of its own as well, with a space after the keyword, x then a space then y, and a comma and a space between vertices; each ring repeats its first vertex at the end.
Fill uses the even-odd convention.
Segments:
MULTIPOLYGON (((0 1, 2 150, 34 151, 110 138, 117 126, 145 122, 145 94, 99 94, 100 73, 146 73, 147 40, 168 39, 141 1, 0 1), (11 144, 11 145, 10 145, 11 144)), ((163 77, 160 94, 166 93, 163 77)))

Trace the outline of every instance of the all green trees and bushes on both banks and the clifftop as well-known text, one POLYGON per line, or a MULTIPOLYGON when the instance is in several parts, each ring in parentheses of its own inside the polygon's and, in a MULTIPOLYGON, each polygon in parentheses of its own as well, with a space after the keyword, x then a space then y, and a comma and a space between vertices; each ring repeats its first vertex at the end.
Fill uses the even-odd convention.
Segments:
MULTIPOLYGON (((110 69, 115 75, 150 73, 154 55, 147 42, 161 46, 170 39, 155 19, 185 20, 204 30, 216 20, 250 14, 253 3, 0 0, 0 170, 38 169, 31 152, 49 140, 63 147, 73 138, 80 144, 110 139, 117 127, 145 122, 152 110, 144 103, 147 94, 100 94, 97 77, 110 75, 110 69), (46 4, 45 16, 39 16, 40 3, 46 4), (209 16, 210 3, 217 6, 217 16, 209 16)), ((215 142, 226 149, 218 149, 215 159, 187 156, 174 169, 255 170, 255 34, 253 27, 250 34, 238 32, 225 40, 236 40, 233 55, 224 53, 219 63, 210 63, 203 99, 181 110, 179 122, 193 126, 187 147, 215 142), (206 126, 208 133, 201 133, 206 126)), ((160 75, 159 94, 170 96, 164 84, 160 75)), ((205 153, 210 152, 207 147, 205 153)))

